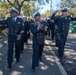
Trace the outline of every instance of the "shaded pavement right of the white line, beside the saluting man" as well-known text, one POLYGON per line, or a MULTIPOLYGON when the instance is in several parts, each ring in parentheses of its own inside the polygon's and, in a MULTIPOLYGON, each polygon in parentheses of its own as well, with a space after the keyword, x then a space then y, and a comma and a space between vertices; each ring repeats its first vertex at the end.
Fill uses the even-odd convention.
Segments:
MULTIPOLYGON (((53 47, 57 55, 57 48, 53 47)), ((65 59, 62 63, 68 75, 76 75, 76 33, 70 33, 65 46, 65 59)))

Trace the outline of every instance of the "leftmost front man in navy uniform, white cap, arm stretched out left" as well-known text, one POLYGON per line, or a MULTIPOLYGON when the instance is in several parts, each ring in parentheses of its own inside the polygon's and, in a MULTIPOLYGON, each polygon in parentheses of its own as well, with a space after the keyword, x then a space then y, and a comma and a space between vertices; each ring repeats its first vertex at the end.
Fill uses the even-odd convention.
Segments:
MULTIPOLYGON (((7 70, 11 69, 13 62, 13 48, 15 44, 15 58, 16 62, 20 59, 20 40, 24 33, 23 20, 18 17, 18 10, 11 8, 10 17, 6 20, 0 21, 0 24, 8 25, 8 54, 7 54, 7 70)), ((3 26, 4 27, 4 26, 3 26)))

